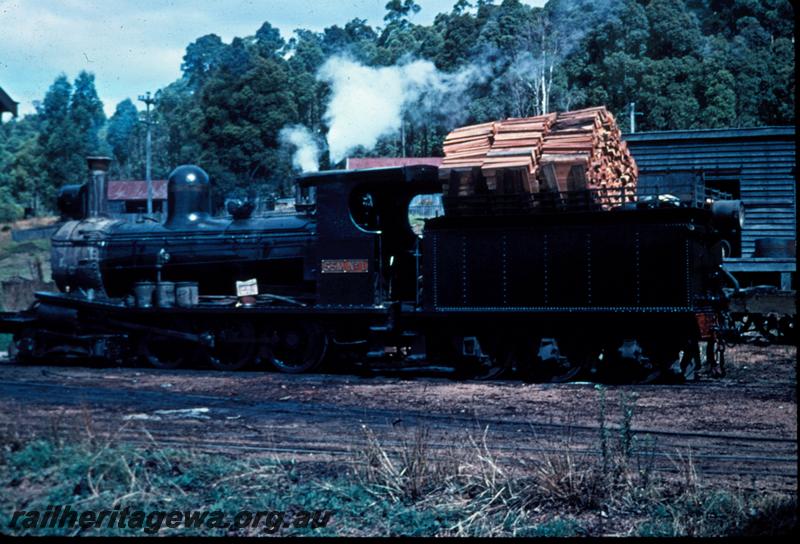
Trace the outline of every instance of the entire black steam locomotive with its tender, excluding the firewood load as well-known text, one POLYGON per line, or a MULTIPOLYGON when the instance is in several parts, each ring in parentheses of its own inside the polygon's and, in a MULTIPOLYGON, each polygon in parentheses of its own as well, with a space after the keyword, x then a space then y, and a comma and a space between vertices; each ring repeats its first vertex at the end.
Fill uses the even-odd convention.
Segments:
POLYGON ((19 361, 308 372, 448 365, 460 376, 643 382, 719 369, 738 201, 702 180, 640 180, 635 195, 444 194, 433 166, 303 175, 292 213, 234 203, 212 217, 208 175, 176 168, 163 222, 106 213, 108 160, 60 196, 60 292, 0 316, 19 361), (680 183, 679 183, 680 182, 680 183), (237 287, 238 286, 238 287, 237 287))

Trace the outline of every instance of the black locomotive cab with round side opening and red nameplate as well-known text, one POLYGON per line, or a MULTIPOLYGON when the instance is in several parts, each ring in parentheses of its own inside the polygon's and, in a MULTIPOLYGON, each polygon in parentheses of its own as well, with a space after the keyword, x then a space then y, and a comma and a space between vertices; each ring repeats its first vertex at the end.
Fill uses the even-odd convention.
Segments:
POLYGON ((320 172, 298 185, 301 193, 316 193, 319 304, 415 300, 419 251, 408 205, 441 191, 435 167, 320 172))

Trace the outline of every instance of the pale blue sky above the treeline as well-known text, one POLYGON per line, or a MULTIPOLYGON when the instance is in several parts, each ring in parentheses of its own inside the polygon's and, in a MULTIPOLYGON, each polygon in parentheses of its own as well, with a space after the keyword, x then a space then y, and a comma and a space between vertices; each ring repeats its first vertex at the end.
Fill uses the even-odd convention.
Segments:
MULTIPOLYGON (((543 5, 544 0, 523 0, 543 5)), ((456 0, 417 0, 412 20, 429 24, 456 0)), ((126 97, 180 75, 186 46, 215 33, 229 42, 269 21, 288 38, 359 17, 381 26, 386 0, 0 0, 0 87, 33 111, 53 79, 93 72, 111 114, 126 97)))

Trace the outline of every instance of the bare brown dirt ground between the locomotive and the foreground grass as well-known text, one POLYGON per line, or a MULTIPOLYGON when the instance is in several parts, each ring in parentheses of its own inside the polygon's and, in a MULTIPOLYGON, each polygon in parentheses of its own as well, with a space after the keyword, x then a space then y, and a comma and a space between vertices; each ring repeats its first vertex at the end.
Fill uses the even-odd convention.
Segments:
POLYGON ((526 459, 566 447, 598 455, 601 410, 613 433, 629 409, 637 451, 660 470, 690 456, 708 477, 796 493, 796 348, 738 346, 727 360, 723 379, 602 388, 6 363, 0 429, 285 456, 326 470, 363 448, 365 430, 391 450, 425 428, 442 454, 485 441, 524 470, 526 459))

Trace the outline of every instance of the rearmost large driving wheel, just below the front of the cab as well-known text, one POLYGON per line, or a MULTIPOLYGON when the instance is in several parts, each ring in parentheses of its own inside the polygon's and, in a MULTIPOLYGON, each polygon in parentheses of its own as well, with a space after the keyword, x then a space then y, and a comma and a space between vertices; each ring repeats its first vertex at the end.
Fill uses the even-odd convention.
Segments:
POLYGON ((317 324, 297 324, 272 331, 267 361, 278 371, 301 374, 317 368, 328 349, 328 335, 317 324))

